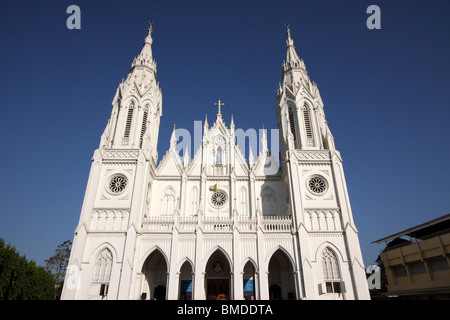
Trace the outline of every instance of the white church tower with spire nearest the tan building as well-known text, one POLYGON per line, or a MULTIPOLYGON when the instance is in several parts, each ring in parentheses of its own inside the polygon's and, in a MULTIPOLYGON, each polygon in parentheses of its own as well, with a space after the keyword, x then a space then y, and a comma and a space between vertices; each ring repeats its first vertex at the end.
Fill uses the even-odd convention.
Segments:
POLYGON ((313 279, 320 278, 322 270, 314 262, 328 252, 331 259, 342 259, 341 271, 331 272, 329 279, 320 283, 321 292, 338 290, 346 292, 348 299, 367 299, 366 275, 342 158, 325 120, 317 84, 310 80, 295 50, 289 27, 286 33, 286 60, 276 100, 282 175, 289 215, 298 232, 301 290, 304 296, 316 292, 313 279), (323 241, 327 243, 323 253, 312 250, 323 241), (345 281, 343 265, 349 270, 345 281))

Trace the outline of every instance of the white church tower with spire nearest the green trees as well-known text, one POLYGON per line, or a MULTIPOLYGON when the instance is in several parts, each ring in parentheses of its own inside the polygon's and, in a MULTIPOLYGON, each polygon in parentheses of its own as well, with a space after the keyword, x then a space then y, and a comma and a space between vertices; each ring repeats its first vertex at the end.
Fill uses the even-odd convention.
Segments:
POLYGON ((127 298, 145 192, 158 160, 162 94, 156 81, 152 29, 150 24, 140 54, 117 88, 94 152, 68 270, 73 276, 69 279, 77 280, 64 287, 63 299, 127 298), (105 239, 106 245, 97 248, 105 239), (86 261, 86 254, 92 254, 93 260, 86 261), (71 286, 76 290, 68 290, 71 286))

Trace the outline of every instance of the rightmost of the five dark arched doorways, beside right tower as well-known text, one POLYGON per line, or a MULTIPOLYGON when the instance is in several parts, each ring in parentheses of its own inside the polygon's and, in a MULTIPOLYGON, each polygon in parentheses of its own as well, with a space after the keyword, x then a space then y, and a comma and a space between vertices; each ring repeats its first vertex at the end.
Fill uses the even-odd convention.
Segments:
POLYGON ((269 299, 294 300, 295 282, 292 262, 284 251, 277 250, 269 262, 269 299))

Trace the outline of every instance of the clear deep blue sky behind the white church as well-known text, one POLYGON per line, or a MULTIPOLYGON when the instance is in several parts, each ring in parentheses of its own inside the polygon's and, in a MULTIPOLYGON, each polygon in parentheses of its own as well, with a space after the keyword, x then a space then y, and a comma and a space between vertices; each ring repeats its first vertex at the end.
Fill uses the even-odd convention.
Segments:
POLYGON ((154 20, 173 124, 276 128, 285 23, 344 160, 366 265, 372 241, 450 212, 450 2, 2 1, 0 237, 43 265, 73 238, 111 101, 154 20), (81 8, 81 30, 66 9, 81 8), (369 30, 366 8, 381 9, 369 30), (210 124, 212 123, 210 121, 210 124))

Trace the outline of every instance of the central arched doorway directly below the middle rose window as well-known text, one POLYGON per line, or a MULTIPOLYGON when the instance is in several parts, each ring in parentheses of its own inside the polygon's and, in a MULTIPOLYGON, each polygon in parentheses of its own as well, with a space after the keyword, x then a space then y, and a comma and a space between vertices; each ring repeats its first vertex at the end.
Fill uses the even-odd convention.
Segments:
POLYGON ((225 254, 217 249, 205 268, 206 300, 231 299, 231 267, 225 254))

